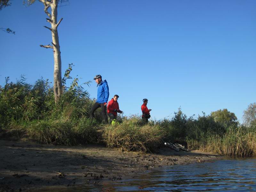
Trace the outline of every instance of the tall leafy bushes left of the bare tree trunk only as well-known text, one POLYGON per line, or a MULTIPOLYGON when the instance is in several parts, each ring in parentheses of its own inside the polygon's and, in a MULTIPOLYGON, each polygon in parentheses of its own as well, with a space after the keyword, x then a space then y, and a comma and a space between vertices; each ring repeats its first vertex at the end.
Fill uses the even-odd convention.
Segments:
POLYGON ((48 80, 44 81, 41 78, 34 85, 26 83, 25 80, 25 77, 21 76, 17 83, 9 83, 9 77, 7 77, 4 87, 0 88, 2 124, 41 119, 52 106, 53 92, 48 80))

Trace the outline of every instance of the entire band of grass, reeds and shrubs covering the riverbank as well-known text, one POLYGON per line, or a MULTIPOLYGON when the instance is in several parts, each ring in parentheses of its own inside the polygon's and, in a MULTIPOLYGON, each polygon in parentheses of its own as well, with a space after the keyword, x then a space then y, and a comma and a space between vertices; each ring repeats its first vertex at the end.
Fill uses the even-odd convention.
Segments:
POLYGON ((245 127, 235 121, 216 122, 205 114, 187 117, 180 108, 171 119, 148 124, 138 116, 119 116, 115 125, 102 125, 100 109, 91 121, 89 110, 95 101, 89 99, 89 93, 78 84, 77 78, 67 87, 68 78, 66 72, 65 87, 57 104, 47 80, 39 79, 31 85, 22 77, 16 83, 6 78, 0 88, 0 136, 26 137, 56 145, 104 142, 111 148, 145 152, 170 141, 223 155, 255 156, 255 124, 245 127))

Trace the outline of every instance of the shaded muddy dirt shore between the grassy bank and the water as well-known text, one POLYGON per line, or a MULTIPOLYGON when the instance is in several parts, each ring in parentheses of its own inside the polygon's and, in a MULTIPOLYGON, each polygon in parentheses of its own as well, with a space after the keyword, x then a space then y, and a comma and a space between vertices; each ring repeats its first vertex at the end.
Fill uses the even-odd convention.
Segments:
POLYGON ((0 140, 0 192, 30 191, 122 180, 151 168, 201 163, 221 156, 202 151, 121 152, 100 145, 78 147, 0 140))

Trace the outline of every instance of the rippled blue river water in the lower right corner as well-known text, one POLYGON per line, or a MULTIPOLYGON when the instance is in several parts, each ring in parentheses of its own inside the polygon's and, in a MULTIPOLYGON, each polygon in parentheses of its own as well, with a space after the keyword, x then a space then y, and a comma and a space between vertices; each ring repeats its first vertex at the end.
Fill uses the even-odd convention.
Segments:
POLYGON ((256 158, 175 165, 76 191, 256 191, 256 158))

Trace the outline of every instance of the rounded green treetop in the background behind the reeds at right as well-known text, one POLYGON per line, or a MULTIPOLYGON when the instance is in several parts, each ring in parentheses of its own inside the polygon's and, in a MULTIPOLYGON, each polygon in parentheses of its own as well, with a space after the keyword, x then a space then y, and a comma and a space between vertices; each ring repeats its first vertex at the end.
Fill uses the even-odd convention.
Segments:
POLYGON ((223 124, 229 124, 237 120, 237 117, 235 116, 235 114, 228 111, 228 109, 223 109, 223 110, 220 109, 217 111, 213 111, 211 113, 211 116, 213 117, 215 122, 219 122, 223 124))

